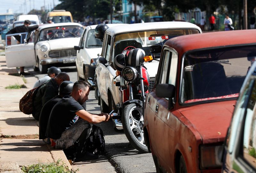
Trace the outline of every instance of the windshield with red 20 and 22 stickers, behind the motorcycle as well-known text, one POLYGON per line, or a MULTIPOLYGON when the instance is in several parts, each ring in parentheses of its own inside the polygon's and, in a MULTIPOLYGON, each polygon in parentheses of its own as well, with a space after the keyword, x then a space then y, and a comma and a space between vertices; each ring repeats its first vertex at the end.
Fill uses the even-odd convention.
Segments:
MULTIPOLYGON (((164 45, 165 41, 188 34, 198 34, 197 29, 165 29, 153 31, 141 31, 116 35, 113 49, 113 59, 116 55, 128 47, 141 48, 145 51, 146 56, 151 55, 150 46, 164 45)), ((155 54, 155 58, 159 58, 160 53, 155 54)), ((112 59, 112 61, 113 61, 112 59)))

